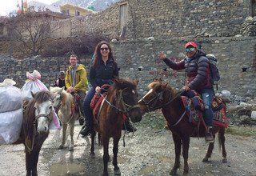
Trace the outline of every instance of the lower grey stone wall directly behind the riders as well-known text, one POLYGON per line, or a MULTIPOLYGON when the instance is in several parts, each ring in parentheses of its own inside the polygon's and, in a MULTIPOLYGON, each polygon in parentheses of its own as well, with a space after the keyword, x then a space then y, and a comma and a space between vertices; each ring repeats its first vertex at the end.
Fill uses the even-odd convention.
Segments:
MULTIPOLYGON (((181 88, 185 80, 184 71, 174 71, 158 62, 157 54, 165 51, 169 58, 176 60, 184 58, 184 44, 191 38, 130 40, 112 42, 114 57, 120 67, 122 78, 139 80, 138 90, 145 93, 146 86, 154 78, 163 78, 173 86, 181 88)), ((218 91, 230 90, 233 94, 254 97, 256 93, 256 38, 197 38, 198 47, 207 54, 214 54, 218 58, 218 68, 221 80, 218 91), (246 70, 245 72, 242 72, 246 70)), ((66 70, 68 58, 26 58, 14 60, 2 58, 5 64, 0 65, 0 82, 5 78, 13 78, 22 87, 26 80, 26 71, 38 70, 42 74, 42 82, 46 86, 54 85, 60 70, 66 70)), ((80 59, 89 71, 90 57, 80 59)))

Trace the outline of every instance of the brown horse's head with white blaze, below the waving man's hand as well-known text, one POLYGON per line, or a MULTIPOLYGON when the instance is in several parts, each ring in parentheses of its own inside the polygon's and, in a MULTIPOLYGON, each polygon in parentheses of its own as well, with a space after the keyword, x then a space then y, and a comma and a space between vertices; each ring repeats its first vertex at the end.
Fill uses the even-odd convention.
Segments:
POLYGON ((176 94, 176 90, 161 79, 154 80, 148 86, 150 90, 138 101, 142 114, 158 110, 169 104, 176 94))

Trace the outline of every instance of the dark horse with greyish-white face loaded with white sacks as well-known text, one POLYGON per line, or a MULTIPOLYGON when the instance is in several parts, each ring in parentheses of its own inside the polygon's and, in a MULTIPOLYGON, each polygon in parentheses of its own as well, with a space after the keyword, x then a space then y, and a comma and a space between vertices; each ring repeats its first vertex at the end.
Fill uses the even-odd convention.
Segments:
POLYGON ((21 138, 26 152, 26 175, 38 175, 38 156, 49 134, 53 118, 53 98, 49 91, 32 93, 23 115, 21 138))

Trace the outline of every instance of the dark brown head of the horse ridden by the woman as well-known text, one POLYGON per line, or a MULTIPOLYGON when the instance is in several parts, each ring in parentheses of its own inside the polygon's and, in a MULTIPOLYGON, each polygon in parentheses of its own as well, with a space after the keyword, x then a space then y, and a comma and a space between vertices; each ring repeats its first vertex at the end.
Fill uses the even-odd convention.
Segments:
POLYGON ((138 106, 138 81, 127 81, 126 79, 115 79, 114 89, 120 109, 130 118, 131 122, 140 122, 142 112, 138 106))

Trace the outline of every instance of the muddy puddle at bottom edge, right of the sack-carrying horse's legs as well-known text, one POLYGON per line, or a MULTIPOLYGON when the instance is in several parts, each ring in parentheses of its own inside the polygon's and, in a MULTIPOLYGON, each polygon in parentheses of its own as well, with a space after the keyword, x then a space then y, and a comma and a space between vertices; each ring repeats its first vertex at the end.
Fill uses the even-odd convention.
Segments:
POLYGON ((82 174, 84 168, 85 166, 76 163, 56 163, 50 166, 50 175, 79 175, 82 174))

